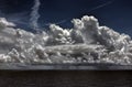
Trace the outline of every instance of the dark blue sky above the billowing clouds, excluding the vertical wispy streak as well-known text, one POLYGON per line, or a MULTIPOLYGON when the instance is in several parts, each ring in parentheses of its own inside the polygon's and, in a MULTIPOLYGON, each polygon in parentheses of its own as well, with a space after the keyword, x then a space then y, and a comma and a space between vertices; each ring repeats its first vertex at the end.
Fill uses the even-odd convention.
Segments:
MULTIPOLYGON (((131 0, 40 0, 40 28, 47 29, 48 23, 72 28, 74 18, 96 17, 100 25, 132 36, 131 0)), ((0 17, 7 18, 18 26, 30 31, 29 20, 33 0, 0 0, 0 17)))

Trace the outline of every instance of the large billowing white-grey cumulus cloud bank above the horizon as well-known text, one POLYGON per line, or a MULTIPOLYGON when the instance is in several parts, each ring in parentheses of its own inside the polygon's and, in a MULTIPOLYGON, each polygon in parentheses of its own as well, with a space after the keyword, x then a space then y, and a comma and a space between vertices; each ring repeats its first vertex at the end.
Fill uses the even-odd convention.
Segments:
POLYGON ((132 64, 132 41, 94 17, 74 19, 73 29, 51 24, 40 34, 14 29, 0 19, 0 62, 132 64))

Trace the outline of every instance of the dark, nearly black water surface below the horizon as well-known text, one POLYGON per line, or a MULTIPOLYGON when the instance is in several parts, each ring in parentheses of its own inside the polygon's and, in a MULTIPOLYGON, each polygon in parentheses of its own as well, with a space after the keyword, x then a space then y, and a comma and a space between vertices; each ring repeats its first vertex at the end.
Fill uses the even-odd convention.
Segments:
POLYGON ((131 72, 0 72, 0 87, 131 87, 131 72))

